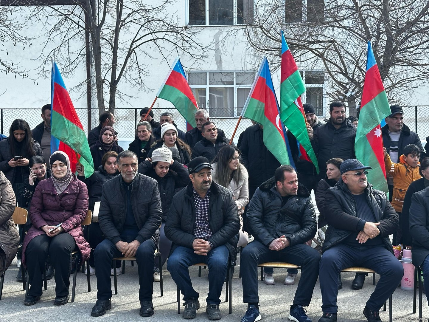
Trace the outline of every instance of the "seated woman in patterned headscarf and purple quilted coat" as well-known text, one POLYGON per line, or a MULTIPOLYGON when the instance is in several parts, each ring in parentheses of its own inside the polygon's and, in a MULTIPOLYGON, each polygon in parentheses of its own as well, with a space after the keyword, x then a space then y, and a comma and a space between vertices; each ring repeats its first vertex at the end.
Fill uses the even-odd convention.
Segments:
POLYGON ((72 252, 89 257, 90 247, 83 237, 82 222, 88 211, 88 189, 70 170, 69 157, 56 151, 49 158, 52 176, 42 180, 34 191, 30 206, 33 226, 24 239, 22 263, 31 284, 24 305, 34 305, 42 295, 42 272, 46 258, 55 270, 54 305, 69 300, 72 252))

